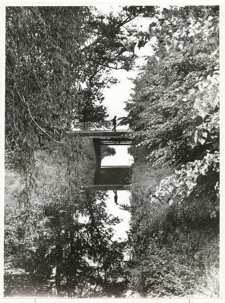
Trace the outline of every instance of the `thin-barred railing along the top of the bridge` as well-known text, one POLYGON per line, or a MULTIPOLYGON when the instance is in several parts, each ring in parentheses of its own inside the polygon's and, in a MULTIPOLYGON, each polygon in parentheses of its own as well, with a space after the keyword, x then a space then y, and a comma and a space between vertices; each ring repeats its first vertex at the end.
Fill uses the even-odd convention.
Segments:
MULTIPOLYGON (((88 131, 108 130, 108 131, 112 131, 113 123, 112 123, 112 121, 73 122, 72 125, 71 125, 71 129, 73 131, 79 131, 79 130, 88 130, 88 131)), ((128 125, 117 125, 116 130, 127 131, 128 130, 128 125)))

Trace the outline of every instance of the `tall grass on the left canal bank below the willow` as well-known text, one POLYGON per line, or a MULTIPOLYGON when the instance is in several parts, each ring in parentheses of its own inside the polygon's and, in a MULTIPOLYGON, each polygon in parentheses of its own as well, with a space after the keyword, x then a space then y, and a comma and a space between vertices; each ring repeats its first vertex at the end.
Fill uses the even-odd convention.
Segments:
MULTIPOLYGON (((92 165, 88 159, 71 161, 70 175, 68 159, 63 156, 61 145, 52 144, 49 149, 36 150, 38 174, 36 190, 30 195, 30 207, 21 203, 24 192, 25 173, 9 167, 5 169, 5 258, 22 255, 21 243, 26 242, 35 251, 35 239, 47 231, 51 218, 59 216, 69 204, 80 199, 78 188, 84 184, 85 172, 92 165), (69 185, 70 182, 70 185, 69 185), (26 224, 25 224, 26 223, 26 224), (29 240, 28 240, 29 239, 29 240)), ((25 247, 24 246, 24 247, 25 247)))

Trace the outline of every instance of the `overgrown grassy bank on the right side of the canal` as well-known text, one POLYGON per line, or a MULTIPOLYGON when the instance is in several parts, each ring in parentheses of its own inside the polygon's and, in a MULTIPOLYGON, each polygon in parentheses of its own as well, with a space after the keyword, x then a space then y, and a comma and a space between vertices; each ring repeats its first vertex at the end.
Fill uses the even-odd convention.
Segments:
POLYGON ((218 218, 207 196, 180 204, 151 203, 170 169, 136 163, 131 186, 133 291, 143 297, 218 297, 218 218))

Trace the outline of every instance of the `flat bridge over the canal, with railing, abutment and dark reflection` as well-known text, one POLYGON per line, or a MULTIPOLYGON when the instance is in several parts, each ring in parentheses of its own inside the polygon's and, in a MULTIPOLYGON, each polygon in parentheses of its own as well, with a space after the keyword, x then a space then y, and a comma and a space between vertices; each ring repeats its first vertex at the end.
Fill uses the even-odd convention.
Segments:
POLYGON ((130 166, 101 166, 103 145, 131 145, 133 139, 127 126, 117 126, 112 131, 111 121, 77 122, 67 131, 68 141, 79 135, 84 154, 95 161, 95 169, 89 171, 87 186, 89 190, 126 189, 130 183, 130 166))

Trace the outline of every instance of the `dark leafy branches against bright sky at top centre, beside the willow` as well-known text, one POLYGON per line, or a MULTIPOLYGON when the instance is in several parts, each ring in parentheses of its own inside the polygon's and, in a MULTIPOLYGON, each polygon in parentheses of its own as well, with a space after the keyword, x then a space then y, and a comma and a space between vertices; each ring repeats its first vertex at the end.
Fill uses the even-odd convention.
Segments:
POLYGON ((125 6, 117 14, 113 11, 108 15, 98 12, 90 19, 88 25, 92 30, 88 38, 92 42, 83 48, 83 52, 87 54, 87 64, 84 67, 89 74, 87 85, 92 86, 95 77, 98 79, 103 74, 105 76, 111 69, 130 70, 136 57, 131 42, 137 40, 134 36, 137 28, 131 21, 137 17, 154 17, 156 13, 156 7, 152 6, 125 6), (131 56, 122 56, 121 48, 130 52, 131 56))

